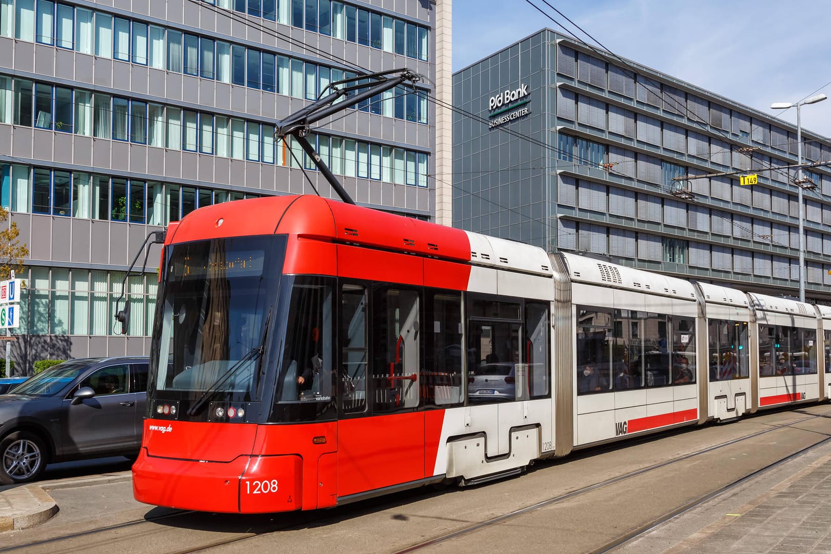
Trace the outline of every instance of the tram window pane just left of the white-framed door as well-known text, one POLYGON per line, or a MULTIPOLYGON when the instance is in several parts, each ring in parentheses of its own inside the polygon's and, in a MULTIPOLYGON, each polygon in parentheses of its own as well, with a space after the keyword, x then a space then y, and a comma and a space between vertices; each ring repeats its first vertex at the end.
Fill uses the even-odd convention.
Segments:
POLYGON ((425 405, 461 404, 462 308, 459 292, 430 292, 425 299, 425 364, 421 397, 425 405))

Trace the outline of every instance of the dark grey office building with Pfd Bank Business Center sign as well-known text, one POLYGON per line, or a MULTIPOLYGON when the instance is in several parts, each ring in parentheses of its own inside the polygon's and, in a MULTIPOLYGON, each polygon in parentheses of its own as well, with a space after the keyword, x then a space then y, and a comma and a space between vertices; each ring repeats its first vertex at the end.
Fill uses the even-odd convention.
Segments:
MULTIPOLYGON (((772 169, 797 163, 793 125, 550 30, 455 72, 453 98, 456 227, 797 295, 795 169, 772 169)), ((806 298, 831 302, 831 173, 805 176, 806 298)))

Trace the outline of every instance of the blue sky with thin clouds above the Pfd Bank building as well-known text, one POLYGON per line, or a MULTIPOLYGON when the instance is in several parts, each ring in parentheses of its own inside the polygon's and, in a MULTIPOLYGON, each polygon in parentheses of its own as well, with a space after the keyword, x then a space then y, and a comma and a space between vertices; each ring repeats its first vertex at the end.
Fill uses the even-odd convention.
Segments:
MULTIPOLYGON (((573 29, 542 0, 533 2, 573 29)), ((791 123, 796 110, 783 113, 770 104, 799 101, 821 89, 829 100, 804 106, 802 126, 831 137, 829 0, 548 3, 618 56, 791 123)), ((453 71, 543 27, 563 32, 527 0, 454 0, 453 71)))

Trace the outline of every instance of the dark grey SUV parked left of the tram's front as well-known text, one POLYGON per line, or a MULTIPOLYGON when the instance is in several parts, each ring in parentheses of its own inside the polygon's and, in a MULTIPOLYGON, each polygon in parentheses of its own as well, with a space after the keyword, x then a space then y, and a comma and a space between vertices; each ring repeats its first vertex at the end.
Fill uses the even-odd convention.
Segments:
POLYGON ((68 360, 0 395, 0 484, 47 463, 138 454, 147 369, 147 357, 68 360))

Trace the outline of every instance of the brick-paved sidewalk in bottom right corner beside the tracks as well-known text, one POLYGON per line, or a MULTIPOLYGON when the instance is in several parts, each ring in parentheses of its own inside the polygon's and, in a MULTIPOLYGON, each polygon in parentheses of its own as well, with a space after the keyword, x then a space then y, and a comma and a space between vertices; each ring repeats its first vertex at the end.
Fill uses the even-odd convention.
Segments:
POLYGON ((831 552, 831 455, 666 552, 831 552))

